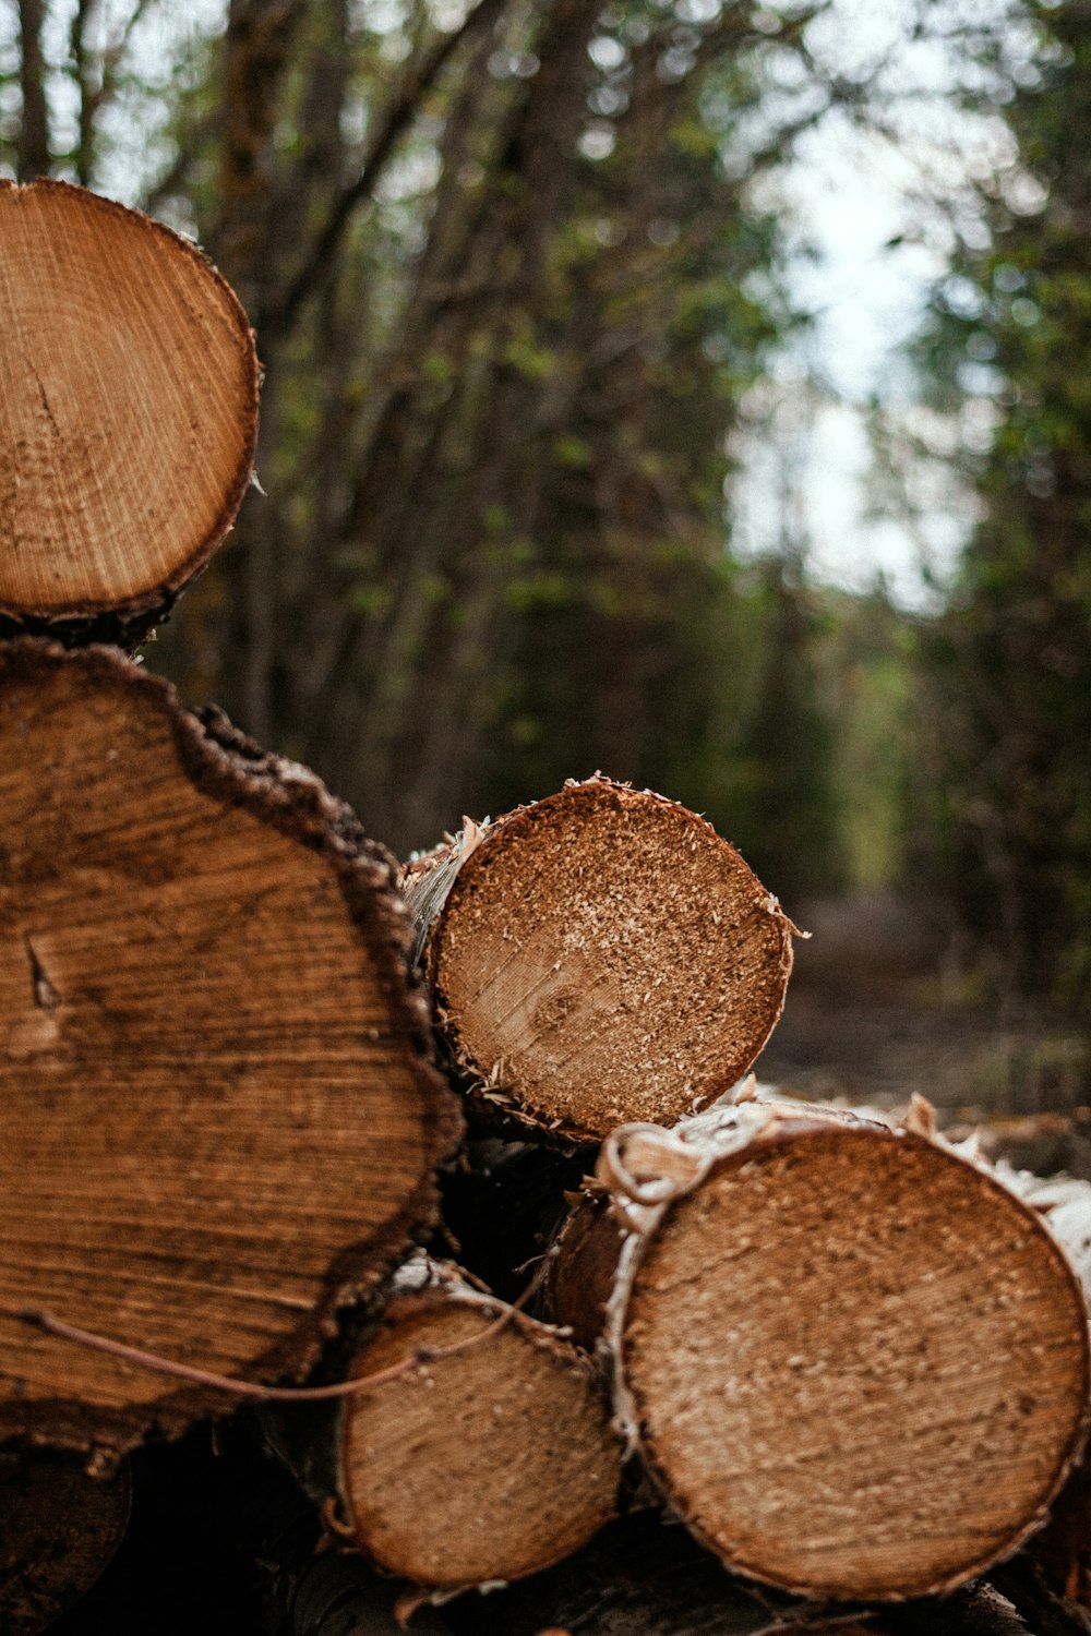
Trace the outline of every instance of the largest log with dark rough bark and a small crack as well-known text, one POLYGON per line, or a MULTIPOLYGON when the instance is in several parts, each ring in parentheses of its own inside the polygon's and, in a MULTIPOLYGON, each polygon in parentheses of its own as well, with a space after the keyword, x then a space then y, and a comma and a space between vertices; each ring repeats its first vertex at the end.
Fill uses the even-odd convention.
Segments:
MULTIPOLYGON (((298 1378, 460 1130, 393 861, 116 649, 0 648, 0 1301, 298 1378)), ((222 1392, 0 1320, 0 1435, 124 1449, 222 1392)))

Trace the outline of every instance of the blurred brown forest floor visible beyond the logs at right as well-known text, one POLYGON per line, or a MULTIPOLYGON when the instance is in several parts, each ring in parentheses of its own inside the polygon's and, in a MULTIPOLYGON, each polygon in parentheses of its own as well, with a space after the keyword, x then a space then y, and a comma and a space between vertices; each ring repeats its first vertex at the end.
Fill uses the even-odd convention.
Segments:
POLYGON ((1086 1024, 990 1005, 926 911, 891 898, 811 903, 800 924, 811 937, 795 946, 783 1016, 756 1067, 762 1083, 887 1109, 919 1091, 949 1127, 986 1119, 1012 1137, 1029 1121, 1030 1168, 1091 1176, 1086 1024))

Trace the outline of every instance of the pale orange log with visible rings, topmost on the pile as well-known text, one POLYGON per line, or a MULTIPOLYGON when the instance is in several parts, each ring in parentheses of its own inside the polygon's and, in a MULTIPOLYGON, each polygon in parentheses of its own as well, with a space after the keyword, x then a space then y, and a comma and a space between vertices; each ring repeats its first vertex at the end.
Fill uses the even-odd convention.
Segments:
POLYGON ((64 182, 0 182, 0 628, 139 641, 231 528, 258 365, 201 252, 64 182))

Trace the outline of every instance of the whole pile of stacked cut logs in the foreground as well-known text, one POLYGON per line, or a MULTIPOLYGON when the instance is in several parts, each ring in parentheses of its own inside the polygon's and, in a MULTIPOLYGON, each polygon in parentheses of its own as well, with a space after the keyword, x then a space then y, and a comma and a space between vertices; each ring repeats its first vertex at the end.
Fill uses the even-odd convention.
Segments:
POLYGON ((399 872, 137 666, 254 461, 191 245, 0 185, 0 337, 3 1629, 146 1628, 168 1492, 255 1636, 1091 1628, 1083 1184, 759 1096, 797 933, 677 803, 399 872))

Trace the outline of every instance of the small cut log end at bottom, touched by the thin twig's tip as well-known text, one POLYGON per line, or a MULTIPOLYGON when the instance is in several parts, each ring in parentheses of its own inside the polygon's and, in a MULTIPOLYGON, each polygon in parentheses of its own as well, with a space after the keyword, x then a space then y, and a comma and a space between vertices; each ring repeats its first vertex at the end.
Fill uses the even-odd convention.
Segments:
MULTIPOLYGON (((494 1319, 479 1301, 397 1297, 357 1373, 483 1335, 494 1319)), ((342 1415, 340 1485, 357 1538, 417 1584, 522 1579, 615 1512, 620 1445, 599 1382, 530 1319, 350 1399, 342 1415)))

